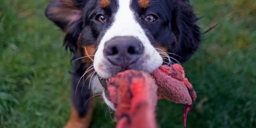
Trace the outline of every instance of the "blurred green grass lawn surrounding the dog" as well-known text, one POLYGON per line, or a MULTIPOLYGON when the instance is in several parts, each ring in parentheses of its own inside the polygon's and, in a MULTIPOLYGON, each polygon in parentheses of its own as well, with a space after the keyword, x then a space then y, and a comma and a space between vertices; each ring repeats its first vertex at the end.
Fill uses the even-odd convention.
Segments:
MULTIPOLYGON (((44 16, 49 0, 0 0, 0 127, 62 127, 70 114, 71 54, 44 16)), ((183 63, 198 91, 187 127, 256 127, 256 1, 191 0, 203 35, 183 63)), ((96 101, 92 128, 115 122, 96 101)), ((158 124, 182 127, 183 105, 160 100, 158 124)))

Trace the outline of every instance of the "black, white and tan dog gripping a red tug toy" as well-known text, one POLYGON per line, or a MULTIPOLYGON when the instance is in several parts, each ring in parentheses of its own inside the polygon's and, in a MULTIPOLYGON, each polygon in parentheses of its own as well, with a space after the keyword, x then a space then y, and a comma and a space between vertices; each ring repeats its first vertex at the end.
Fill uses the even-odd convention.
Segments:
POLYGON ((92 93, 113 110, 105 79, 127 69, 152 72, 182 63, 199 47, 201 32, 187 0, 51 0, 46 17, 66 32, 74 53, 71 117, 66 128, 89 127, 92 93))

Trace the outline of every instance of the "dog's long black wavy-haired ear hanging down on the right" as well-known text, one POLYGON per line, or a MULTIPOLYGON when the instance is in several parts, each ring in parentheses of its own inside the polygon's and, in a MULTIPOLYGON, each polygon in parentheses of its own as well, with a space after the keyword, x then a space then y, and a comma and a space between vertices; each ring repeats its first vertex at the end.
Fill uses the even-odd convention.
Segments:
POLYGON ((186 0, 176 1, 171 24, 178 44, 175 53, 182 57, 177 58, 179 62, 189 59, 199 47, 201 32, 195 22, 196 16, 191 5, 186 0))

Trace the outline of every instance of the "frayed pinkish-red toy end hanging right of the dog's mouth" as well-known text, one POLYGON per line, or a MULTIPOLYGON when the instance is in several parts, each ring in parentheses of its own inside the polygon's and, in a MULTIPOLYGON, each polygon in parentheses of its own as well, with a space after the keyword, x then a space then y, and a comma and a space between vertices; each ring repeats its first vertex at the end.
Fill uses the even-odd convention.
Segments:
POLYGON ((165 98, 169 101, 185 104, 183 112, 183 125, 186 127, 187 113, 192 109, 192 102, 197 94, 192 84, 185 78, 183 67, 174 64, 172 67, 162 65, 151 73, 158 86, 158 99, 165 98))

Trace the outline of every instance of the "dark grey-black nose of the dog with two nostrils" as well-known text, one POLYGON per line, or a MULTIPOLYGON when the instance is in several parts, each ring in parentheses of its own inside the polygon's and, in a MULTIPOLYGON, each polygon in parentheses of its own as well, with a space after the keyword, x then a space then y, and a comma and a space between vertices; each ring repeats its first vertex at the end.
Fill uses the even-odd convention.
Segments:
POLYGON ((113 64, 128 69, 144 51, 142 43, 132 36, 117 36, 105 43, 104 55, 113 64))

